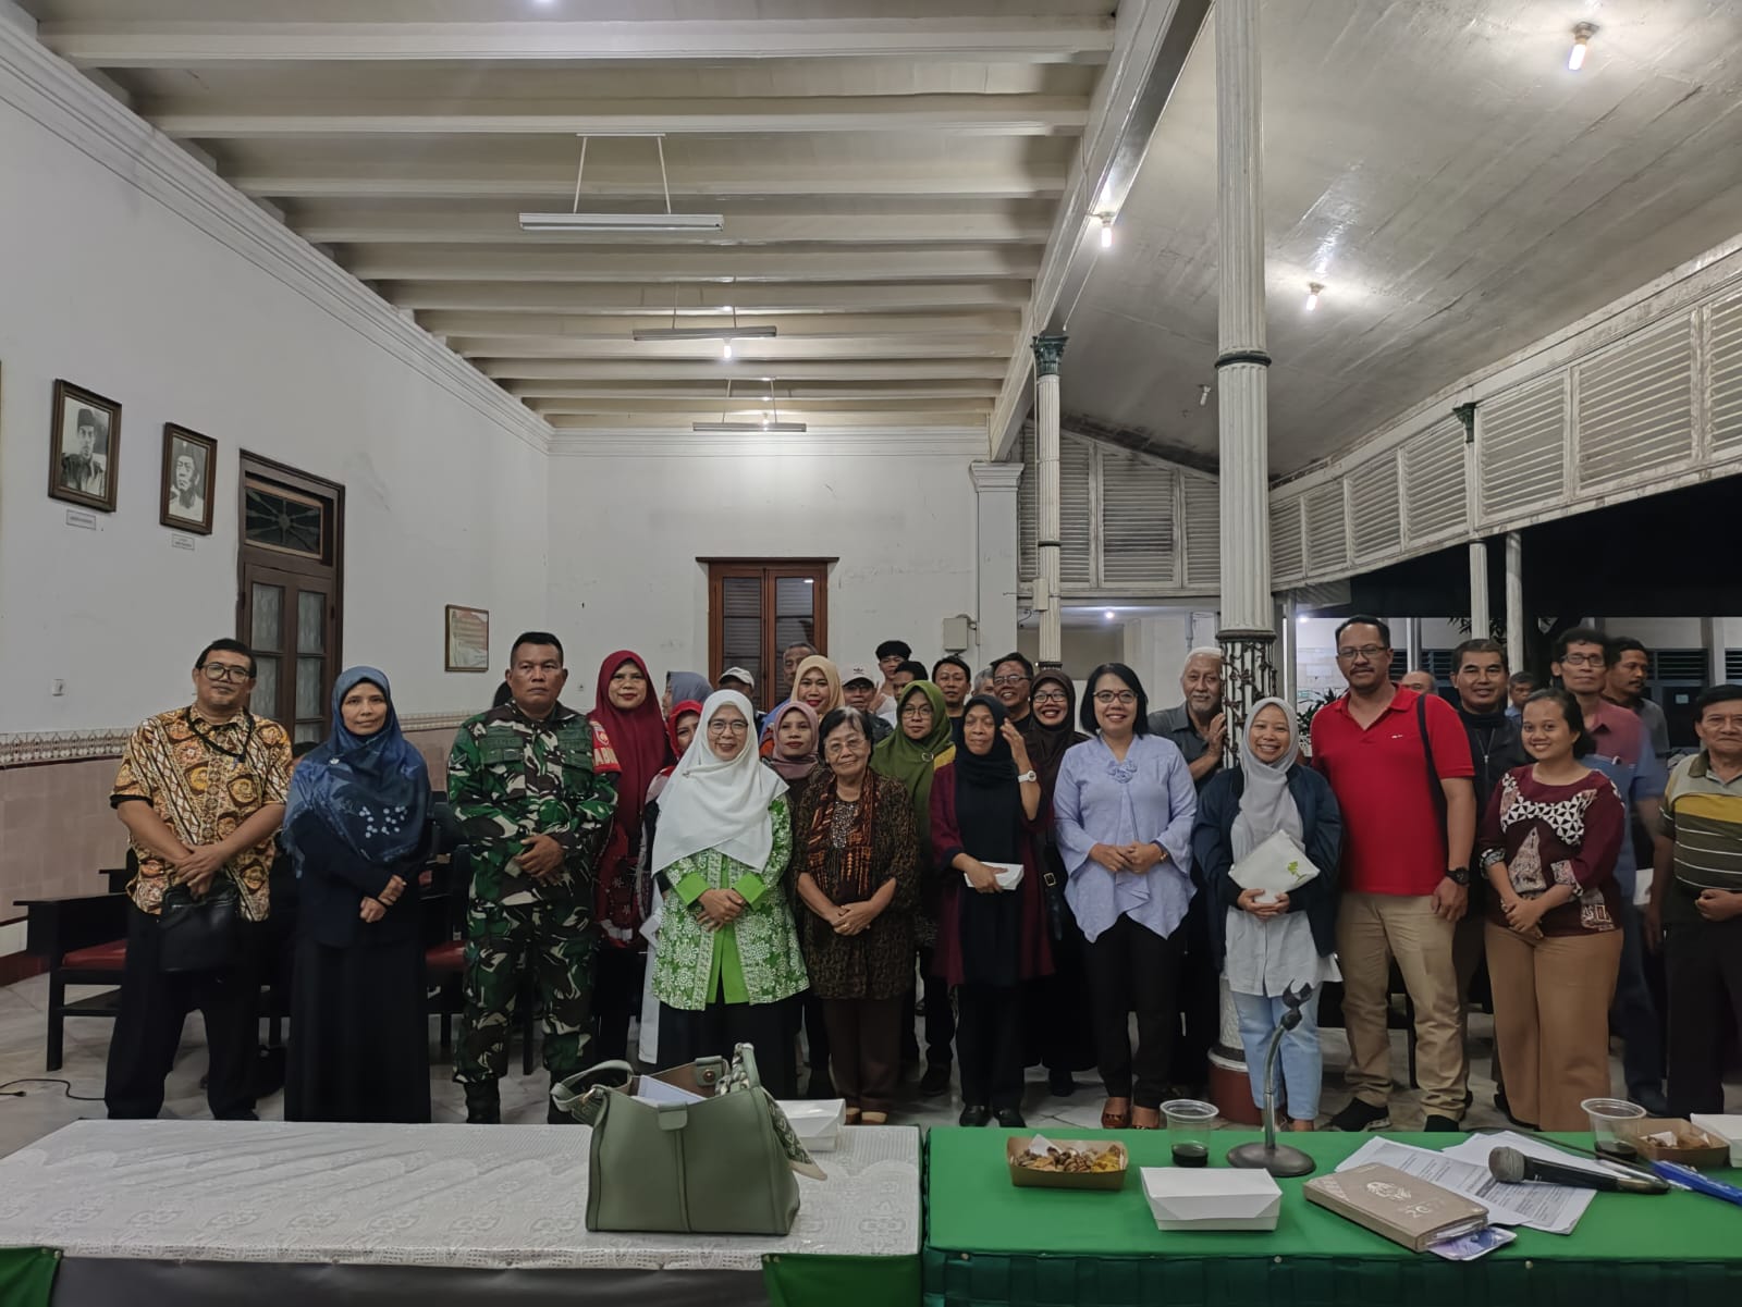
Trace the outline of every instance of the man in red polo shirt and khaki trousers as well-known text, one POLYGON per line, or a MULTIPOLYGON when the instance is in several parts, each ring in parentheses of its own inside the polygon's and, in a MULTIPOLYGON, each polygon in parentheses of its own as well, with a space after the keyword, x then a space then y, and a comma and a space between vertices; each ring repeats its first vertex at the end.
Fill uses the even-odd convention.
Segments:
POLYGON ((1392 684, 1392 632, 1378 618, 1336 628, 1336 665, 1348 694, 1313 714, 1312 762, 1343 809, 1336 959, 1355 1096, 1329 1128, 1390 1124, 1385 1013, 1395 957, 1416 1013, 1421 1128, 1456 1129, 1467 1076, 1451 942, 1475 842, 1470 741, 1446 700, 1392 684))

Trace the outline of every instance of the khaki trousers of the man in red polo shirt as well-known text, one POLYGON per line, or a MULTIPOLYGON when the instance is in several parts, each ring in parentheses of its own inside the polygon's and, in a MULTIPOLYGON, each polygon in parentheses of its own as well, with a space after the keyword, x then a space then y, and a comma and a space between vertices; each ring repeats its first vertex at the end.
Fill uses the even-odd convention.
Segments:
POLYGON ((1451 961, 1453 926, 1427 895, 1343 895, 1336 964, 1343 971, 1343 1030, 1355 1098, 1385 1107, 1392 1096, 1387 987, 1392 959, 1416 1013, 1416 1081, 1428 1116, 1463 1116, 1463 999, 1451 961))

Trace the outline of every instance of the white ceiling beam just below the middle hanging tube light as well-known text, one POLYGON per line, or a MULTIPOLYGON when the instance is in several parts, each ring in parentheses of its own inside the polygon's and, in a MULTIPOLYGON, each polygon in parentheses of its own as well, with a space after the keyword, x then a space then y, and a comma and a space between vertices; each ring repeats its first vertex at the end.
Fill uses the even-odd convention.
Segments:
MULTIPOLYGON (((718 359, 723 341, 636 341, 627 334, 573 339, 568 336, 449 336, 448 348, 463 359, 718 359)), ((765 359, 1009 359, 1010 332, 923 336, 838 336, 768 339, 740 338, 732 353, 744 362, 765 359)))

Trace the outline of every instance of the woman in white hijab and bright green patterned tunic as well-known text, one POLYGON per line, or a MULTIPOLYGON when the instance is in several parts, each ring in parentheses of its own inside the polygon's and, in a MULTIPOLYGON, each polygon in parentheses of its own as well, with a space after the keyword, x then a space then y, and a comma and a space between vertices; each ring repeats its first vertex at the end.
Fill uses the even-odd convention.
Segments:
POLYGON ((786 888, 793 821, 786 781, 761 766, 754 712, 735 689, 702 705, 697 741, 660 795, 655 874, 664 921, 653 964, 658 1063, 756 1048, 763 1086, 796 1096, 793 995, 807 985, 786 888))

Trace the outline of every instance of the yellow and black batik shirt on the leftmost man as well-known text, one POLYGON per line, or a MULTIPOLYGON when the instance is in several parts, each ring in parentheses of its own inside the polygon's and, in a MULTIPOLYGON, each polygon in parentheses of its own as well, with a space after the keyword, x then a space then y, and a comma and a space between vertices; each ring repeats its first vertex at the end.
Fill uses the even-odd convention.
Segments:
MULTIPOLYGON (((209 722, 197 708, 148 717, 129 736, 110 792, 110 806, 148 802, 190 849, 216 844, 261 808, 282 804, 291 787, 291 736, 277 722, 242 714, 209 722)), ((223 867, 242 891, 242 914, 265 921, 267 882, 277 849, 272 835, 223 867)), ((139 874, 127 886, 143 912, 162 912, 174 874, 162 858, 134 844, 139 874)))

